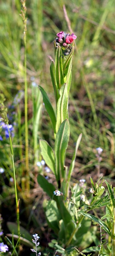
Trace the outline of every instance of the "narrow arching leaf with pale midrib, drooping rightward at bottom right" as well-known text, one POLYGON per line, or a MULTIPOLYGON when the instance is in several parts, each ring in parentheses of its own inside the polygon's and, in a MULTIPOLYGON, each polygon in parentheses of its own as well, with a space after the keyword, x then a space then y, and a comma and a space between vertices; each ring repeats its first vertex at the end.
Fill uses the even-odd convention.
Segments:
POLYGON ((109 228, 106 226, 106 224, 104 223, 103 220, 98 219, 96 216, 89 214, 89 213, 84 213, 81 212, 81 214, 85 217, 90 218, 91 220, 97 222, 110 236, 111 236, 111 232, 109 230, 109 228))

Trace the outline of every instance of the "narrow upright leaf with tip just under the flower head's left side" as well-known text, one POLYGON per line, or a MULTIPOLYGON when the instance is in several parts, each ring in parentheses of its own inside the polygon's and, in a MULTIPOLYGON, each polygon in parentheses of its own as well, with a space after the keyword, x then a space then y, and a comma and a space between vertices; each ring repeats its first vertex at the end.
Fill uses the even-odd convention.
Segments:
POLYGON ((64 84, 62 52, 61 52, 60 46, 58 46, 55 53, 55 80, 56 80, 57 88, 60 89, 61 85, 64 84))

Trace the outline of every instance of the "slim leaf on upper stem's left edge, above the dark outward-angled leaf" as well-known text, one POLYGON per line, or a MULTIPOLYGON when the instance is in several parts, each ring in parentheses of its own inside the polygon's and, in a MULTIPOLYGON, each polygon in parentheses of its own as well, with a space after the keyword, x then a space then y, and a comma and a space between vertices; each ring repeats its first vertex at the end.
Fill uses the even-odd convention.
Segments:
POLYGON ((56 103, 57 103, 57 101, 59 99, 59 92, 58 92, 56 78, 55 78, 55 66, 54 66, 54 61, 53 60, 52 60, 51 65, 50 65, 50 75, 51 75, 52 84, 53 84, 53 88, 54 88, 55 100, 56 100, 56 103))

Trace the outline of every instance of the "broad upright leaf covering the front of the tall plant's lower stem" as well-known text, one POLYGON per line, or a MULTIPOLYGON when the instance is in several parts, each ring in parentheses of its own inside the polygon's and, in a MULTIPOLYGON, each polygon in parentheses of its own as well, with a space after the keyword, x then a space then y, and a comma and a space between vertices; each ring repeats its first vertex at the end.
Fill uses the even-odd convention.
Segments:
POLYGON ((69 140, 69 122, 68 119, 64 120, 55 138, 55 158, 56 158, 56 175, 58 180, 64 177, 65 154, 68 147, 69 140))

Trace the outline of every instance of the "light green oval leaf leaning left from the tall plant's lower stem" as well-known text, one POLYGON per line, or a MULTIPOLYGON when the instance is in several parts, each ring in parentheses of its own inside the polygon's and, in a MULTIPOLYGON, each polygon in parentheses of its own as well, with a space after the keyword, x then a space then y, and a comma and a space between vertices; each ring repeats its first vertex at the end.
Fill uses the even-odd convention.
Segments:
POLYGON ((46 140, 40 140, 40 148, 44 161, 55 174, 55 156, 53 149, 50 147, 46 140))

